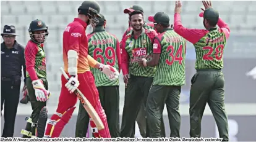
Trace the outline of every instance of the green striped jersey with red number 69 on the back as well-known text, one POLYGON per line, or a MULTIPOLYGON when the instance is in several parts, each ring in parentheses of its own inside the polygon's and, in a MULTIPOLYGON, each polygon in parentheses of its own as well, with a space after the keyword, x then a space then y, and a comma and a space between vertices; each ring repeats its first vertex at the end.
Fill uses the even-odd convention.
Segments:
MULTIPOLYGON (((93 33, 88 34, 88 54, 96 61, 104 65, 113 66, 118 70, 117 44, 117 38, 113 34, 106 32, 103 27, 96 27, 93 33)), ((118 79, 110 81, 106 74, 102 73, 99 69, 90 69, 95 77, 96 87, 119 85, 118 79)))

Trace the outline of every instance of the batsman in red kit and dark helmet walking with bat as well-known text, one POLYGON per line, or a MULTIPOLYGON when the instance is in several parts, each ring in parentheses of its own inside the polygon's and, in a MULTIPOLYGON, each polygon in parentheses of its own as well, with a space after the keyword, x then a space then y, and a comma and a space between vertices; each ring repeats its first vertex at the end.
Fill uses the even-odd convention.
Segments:
POLYGON ((78 9, 79 16, 74 22, 67 25, 63 33, 63 60, 64 71, 69 74, 69 81, 61 76, 61 95, 59 96, 58 108, 47 121, 45 129, 45 137, 59 137, 64 126, 69 122, 77 103, 77 95, 74 91, 79 89, 85 97, 90 101, 95 111, 100 116, 104 124, 104 129, 98 130, 93 121, 91 127, 98 133, 94 133, 95 137, 110 138, 106 114, 101 106, 98 90, 96 89, 95 80, 90 67, 98 68, 109 79, 117 79, 118 71, 109 66, 103 65, 88 56, 88 40, 85 33, 87 25, 96 25, 100 6, 95 1, 83 1, 78 9))

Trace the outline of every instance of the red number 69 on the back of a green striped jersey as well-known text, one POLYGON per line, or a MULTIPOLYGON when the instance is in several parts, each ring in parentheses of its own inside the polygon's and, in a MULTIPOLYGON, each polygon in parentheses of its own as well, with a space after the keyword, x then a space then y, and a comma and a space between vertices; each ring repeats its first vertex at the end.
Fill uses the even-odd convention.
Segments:
POLYGON ((114 52, 113 47, 106 47, 104 53, 101 48, 96 48, 93 51, 93 58, 95 60, 98 60, 98 58, 100 58, 100 63, 105 64, 103 55, 109 60, 109 61, 106 61, 107 65, 114 66, 114 63, 116 63, 116 53, 114 52), (109 55, 109 51, 110 51, 110 55, 109 55))

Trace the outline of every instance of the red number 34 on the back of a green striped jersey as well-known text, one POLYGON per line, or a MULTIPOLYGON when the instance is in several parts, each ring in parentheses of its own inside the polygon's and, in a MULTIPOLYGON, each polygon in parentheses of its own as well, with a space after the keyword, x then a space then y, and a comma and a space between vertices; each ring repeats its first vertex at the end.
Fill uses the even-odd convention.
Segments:
POLYGON ((182 45, 179 45, 179 49, 177 50, 175 56, 174 56, 174 47, 173 45, 169 45, 166 49, 166 52, 169 52, 169 50, 171 50, 171 52, 169 53, 169 57, 171 57, 171 61, 169 61, 168 59, 165 60, 166 64, 171 66, 173 65, 174 61, 179 61, 179 65, 181 65, 183 57, 182 57, 182 45))

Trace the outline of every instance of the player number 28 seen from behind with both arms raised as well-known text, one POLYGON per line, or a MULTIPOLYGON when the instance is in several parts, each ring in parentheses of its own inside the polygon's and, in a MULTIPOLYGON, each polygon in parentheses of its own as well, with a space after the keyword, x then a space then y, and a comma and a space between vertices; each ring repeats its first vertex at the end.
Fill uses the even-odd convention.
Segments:
POLYGON ((197 73, 191 79, 190 89, 190 136, 201 137, 201 120, 208 103, 220 138, 228 141, 228 116, 224 107, 223 53, 229 37, 229 27, 219 18, 211 2, 203 1, 200 14, 206 30, 188 29, 181 24, 181 2, 176 1, 174 31, 195 46, 197 73), (218 25, 220 28, 218 29, 218 25))

